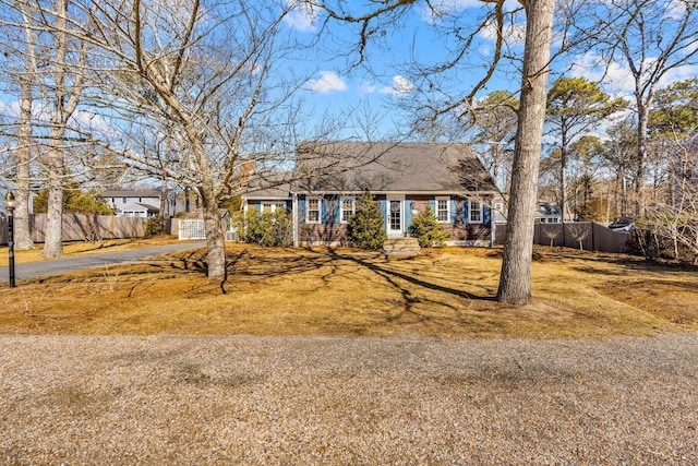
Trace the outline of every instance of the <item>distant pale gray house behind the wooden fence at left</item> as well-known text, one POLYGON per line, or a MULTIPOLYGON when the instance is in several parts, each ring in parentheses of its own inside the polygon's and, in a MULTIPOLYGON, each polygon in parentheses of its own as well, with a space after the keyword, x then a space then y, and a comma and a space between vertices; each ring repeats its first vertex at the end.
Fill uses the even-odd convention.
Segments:
MULTIPOLYGON (((154 217, 160 214, 161 192, 156 189, 111 190, 101 193, 105 202, 118 217, 154 217)), ((165 202, 166 217, 179 212, 173 190, 167 191, 165 202)))

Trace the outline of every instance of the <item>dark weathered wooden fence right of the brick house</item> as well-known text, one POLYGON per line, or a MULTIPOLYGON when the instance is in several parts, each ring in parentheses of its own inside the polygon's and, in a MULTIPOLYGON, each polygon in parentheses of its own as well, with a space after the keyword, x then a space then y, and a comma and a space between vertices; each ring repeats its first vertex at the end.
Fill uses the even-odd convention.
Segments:
MULTIPOLYGON (((497 225, 497 244, 504 243, 506 225, 497 225)), ((576 222, 565 224, 535 224, 533 244, 562 246, 583 249, 586 251, 622 253, 627 252, 627 241, 631 235, 613 231, 593 222, 576 222)))

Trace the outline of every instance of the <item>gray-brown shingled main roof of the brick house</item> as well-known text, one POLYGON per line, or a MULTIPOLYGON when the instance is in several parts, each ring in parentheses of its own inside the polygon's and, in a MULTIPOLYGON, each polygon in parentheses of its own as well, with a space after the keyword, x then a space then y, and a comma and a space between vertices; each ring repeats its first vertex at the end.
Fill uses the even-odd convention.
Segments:
POLYGON ((309 192, 483 192, 495 186, 459 143, 308 143, 299 150, 297 188, 309 192))

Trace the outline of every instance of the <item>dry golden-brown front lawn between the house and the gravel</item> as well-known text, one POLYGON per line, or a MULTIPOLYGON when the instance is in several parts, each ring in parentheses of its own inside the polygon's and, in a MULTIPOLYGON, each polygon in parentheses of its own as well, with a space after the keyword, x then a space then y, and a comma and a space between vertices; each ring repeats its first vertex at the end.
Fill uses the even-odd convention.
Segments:
POLYGON ((604 337, 698 330, 698 270, 537 248, 533 303, 494 300, 500 249, 389 259, 351 250, 228 247, 0 287, 0 334, 604 337))

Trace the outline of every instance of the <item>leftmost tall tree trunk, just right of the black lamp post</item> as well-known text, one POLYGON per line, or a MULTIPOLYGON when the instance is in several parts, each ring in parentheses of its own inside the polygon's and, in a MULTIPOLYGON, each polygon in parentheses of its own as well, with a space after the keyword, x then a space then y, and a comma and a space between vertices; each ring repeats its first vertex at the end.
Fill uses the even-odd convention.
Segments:
MULTIPOLYGON (((27 58, 28 60, 28 58, 27 58)), ((21 83, 20 129, 17 130, 16 182, 14 210, 14 248, 34 249, 29 229, 29 160, 32 154, 32 85, 21 83)))

